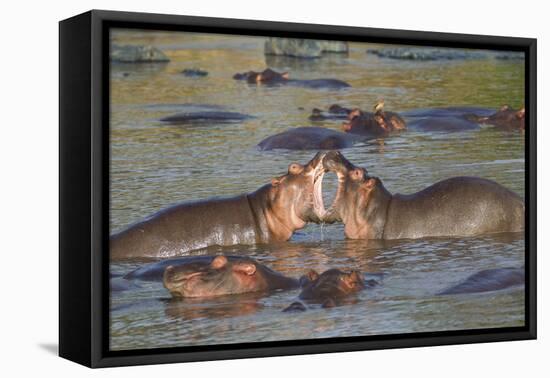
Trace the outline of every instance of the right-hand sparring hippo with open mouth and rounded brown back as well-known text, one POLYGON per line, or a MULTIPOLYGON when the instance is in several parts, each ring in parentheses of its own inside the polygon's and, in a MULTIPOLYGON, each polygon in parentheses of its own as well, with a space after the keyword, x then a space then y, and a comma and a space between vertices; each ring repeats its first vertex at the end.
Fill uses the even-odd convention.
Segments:
POLYGON ((343 221, 350 239, 414 239, 473 236, 524 229, 521 197, 482 178, 453 177, 420 192, 391 194, 377 177, 328 152, 325 170, 338 176, 338 189, 325 222, 343 221))

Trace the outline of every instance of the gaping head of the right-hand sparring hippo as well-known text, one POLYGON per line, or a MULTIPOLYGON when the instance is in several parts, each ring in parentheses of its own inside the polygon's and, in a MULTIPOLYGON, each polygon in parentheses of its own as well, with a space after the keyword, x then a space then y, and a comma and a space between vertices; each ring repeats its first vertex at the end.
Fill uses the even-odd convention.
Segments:
POLYGON ((377 188, 385 190, 380 179, 370 177, 366 169, 354 166, 338 151, 327 153, 323 165, 326 171, 338 176, 336 197, 323 221, 344 222, 345 235, 350 239, 367 238, 369 230, 365 215, 368 204, 377 188))

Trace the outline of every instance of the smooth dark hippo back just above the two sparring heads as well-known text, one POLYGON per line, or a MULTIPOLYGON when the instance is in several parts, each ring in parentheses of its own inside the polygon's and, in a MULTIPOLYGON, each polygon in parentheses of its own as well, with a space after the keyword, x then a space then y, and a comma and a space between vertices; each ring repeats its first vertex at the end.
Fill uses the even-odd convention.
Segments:
POLYGON ((323 127, 297 127, 262 140, 258 147, 262 151, 287 150, 340 150, 361 141, 355 135, 323 127))

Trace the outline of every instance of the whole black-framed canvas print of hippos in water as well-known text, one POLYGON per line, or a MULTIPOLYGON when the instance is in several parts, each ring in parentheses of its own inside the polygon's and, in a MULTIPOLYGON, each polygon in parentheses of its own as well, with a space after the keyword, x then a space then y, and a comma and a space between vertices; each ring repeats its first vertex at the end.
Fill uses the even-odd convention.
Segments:
POLYGON ((534 39, 61 21, 60 355, 535 338, 535 149, 534 39))

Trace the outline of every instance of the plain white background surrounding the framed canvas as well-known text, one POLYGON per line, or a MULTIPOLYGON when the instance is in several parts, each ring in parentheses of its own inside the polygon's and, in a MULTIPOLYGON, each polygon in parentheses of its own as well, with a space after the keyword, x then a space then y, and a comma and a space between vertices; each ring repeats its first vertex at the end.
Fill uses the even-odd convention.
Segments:
POLYGON ((550 274, 544 216, 549 214, 549 201, 544 190, 548 177, 543 171, 550 162, 545 71, 549 64, 550 12, 544 3, 4 1, 0 22, 1 375, 548 376, 549 301, 543 300, 543 295, 548 295, 545 273, 550 274), (57 22, 92 8, 538 38, 539 340, 102 370, 86 369, 57 357, 57 22))

